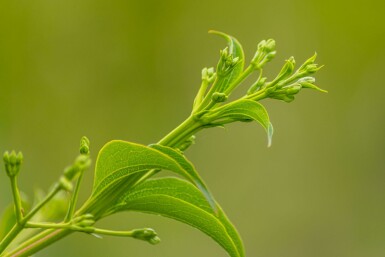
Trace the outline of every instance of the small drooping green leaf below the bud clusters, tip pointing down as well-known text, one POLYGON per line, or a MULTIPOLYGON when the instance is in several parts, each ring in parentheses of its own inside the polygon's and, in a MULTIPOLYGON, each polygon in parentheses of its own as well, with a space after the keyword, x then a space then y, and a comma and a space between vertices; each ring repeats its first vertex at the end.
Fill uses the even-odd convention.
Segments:
POLYGON ((273 137, 273 126, 265 107, 252 100, 241 99, 208 112, 203 118, 209 119, 214 125, 223 125, 234 121, 257 121, 266 130, 268 146, 273 137))

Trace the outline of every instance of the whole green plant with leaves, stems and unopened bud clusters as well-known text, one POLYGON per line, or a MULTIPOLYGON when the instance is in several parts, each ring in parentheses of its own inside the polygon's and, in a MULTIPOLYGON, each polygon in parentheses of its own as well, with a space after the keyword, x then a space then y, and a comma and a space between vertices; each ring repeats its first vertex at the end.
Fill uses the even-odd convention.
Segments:
POLYGON ((226 39, 228 45, 220 51, 216 69, 202 70, 202 83, 191 115, 156 144, 108 142, 99 151, 92 192, 81 207, 77 208, 80 184, 91 164, 90 142, 86 137, 81 139, 80 154, 74 163, 64 170, 49 193, 35 196, 33 206, 24 201, 17 185, 23 155, 15 151, 4 154, 14 202, 1 221, 0 257, 30 256, 74 232, 132 237, 151 244, 160 242, 151 228, 114 231, 95 225, 98 220, 122 211, 153 213, 179 220, 209 235, 231 257, 245 256, 237 230, 184 151, 194 144, 200 130, 236 121, 257 121, 266 130, 270 146, 273 127, 259 101, 271 98, 291 102, 303 88, 325 91, 314 85, 313 74, 320 69, 315 64, 316 55, 298 69, 290 57, 278 75, 268 80, 263 76, 263 69, 276 55, 274 40, 262 40, 245 68, 241 44, 227 34, 210 32, 226 39), (255 72, 258 78, 246 93, 230 101, 231 93, 255 72), (162 170, 177 176, 152 178, 162 170))

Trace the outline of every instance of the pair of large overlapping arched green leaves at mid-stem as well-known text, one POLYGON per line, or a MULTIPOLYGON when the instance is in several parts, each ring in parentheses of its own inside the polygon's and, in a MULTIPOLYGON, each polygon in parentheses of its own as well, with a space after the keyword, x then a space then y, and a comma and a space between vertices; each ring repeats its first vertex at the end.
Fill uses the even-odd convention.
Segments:
POLYGON ((98 218, 125 210, 173 218, 200 229, 232 257, 244 256, 238 233, 194 166, 181 153, 166 146, 107 143, 98 155, 93 191, 86 206, 82 211, 98 218), (136 185, 153 169, 172 171, 187 181, 164 178, 136 185))

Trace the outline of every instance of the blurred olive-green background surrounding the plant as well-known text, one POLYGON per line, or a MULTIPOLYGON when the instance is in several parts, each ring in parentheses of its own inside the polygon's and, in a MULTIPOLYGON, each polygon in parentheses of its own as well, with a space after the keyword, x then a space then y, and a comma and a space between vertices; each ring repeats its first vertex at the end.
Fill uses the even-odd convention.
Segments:
MULTIPOLYGON (((315 51, 317 84, 275 126, 234 124, 198 135, 187 156, 239 229, 247 256, 385 256, 385 3, 358 1, 0 1, 0 151, 22 150, 20 187, 45 190, 77 155, 104 143, 156 142, 190 112, 200 71, 227 32, 248 60, 262 39, 271 76, 315 51)), ((1 168, 3 171, 4 169, 1 168)), ((82 199, 90 192, 87 174, 82 199)), ((11 199, 0 173, 0 211, 11 199)), ((162 243, 72 235, 45 256, 226 256, 209 237, 165 218, 123 213, 102 227, 153 227, 162 243)))

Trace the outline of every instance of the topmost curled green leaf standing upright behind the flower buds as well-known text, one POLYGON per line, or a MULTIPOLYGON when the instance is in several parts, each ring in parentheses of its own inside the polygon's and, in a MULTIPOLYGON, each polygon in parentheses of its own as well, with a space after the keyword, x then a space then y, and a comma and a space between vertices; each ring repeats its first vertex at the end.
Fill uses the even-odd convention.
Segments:
POLYGON ((245 64, 245 55, 243 53, 242 45, 239 43, 239 41, 236 38, 230 35, 227 35, 223 32, 210 30, 209 33, 223 37, 228 43, 228 52, 229 52, 229 56, 231 56, 230 59, 233 59, 233 60, 238 59, 238 61, 236 62, 236 65, 231 68, 231 71, 228 74, 226 74, 226 76, 221 77, 220 70, 219 69, 217 70, 218 77, 213 85, 213 92, 220 92, 220 93, 227 92, 227 89, 243 72, 243 68, 245 64))

